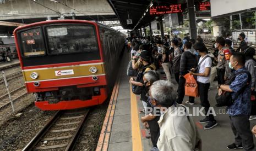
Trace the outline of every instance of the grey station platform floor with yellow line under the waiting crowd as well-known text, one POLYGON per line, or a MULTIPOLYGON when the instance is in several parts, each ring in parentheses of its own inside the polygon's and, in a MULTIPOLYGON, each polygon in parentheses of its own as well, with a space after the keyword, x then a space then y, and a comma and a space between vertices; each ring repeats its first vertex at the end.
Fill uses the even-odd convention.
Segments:
MULTIPOLYGON (((101 135, 96 149, 97 151, 140 151, 150 150, 152 147, 150 138, 145 138, 146 130, 140 122, 140 117, 144 115, 139 114, 139 111, 143 109, 140 96, 133 94, 129 84, 129 77, 126 75, 126 66, 129 61, 128 58, 129 55, 125 52, 122 59, 121 69, 119 71, 119 79, 113 89, 104 125, 102 126, 101 135)), ((172 82, 177 85, 174 77, 172 82)), ((213 129, 205 130, 203 128, 205 124, 200 124, 198 122, 204 117, 201 117, 200 115, 198 117, 193 117, 203 142, 204 151, 225 151, 228 150, 226 146, 235 141, 235 136, 231 130, 230 119, 228 114, 225 112, 225 107, 215 107, 215 95, 217 93, 216 88, 217 82, 210 86, 209 101, 211 106, 215 109, 215 119, 217 120, 218 125, 213 129)), ((187 100, 188 97, 184 97, 183 104, 187 100)), ((199 98, 195 98, 195 104, 193 106, 185 105, 189 107, 190 113, 190 111, 192 112, 192 107, 200 107, 200 100, 199 98)), ((256 125, 256 120, 250 121, 250 124, 252 128, 256 125)), ((254 144, 256 144, 255 137, 254 144)))

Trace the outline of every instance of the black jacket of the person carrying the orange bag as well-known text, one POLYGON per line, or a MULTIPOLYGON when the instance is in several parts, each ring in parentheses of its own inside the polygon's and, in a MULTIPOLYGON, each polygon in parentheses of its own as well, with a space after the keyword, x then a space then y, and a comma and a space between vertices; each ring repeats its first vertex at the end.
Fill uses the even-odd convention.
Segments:
POLYGON ((192 54, 189 50, 184 51, 181 55, 181 65, 179 67, 179 75, 189 73, 189 70, 197 67, 197 56, 192 54))

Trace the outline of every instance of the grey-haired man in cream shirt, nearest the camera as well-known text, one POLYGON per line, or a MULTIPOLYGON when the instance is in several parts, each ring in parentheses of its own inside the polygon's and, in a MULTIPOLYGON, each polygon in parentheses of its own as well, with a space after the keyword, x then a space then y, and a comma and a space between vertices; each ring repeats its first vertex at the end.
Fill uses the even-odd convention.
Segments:
POLYGON ((185 112, 188 111, 185 106, 176 103, 175 85, 165 80, 158 80, 151 85, 149 95, 150 102, 161 111, 158 121, 159 150, 201 150, 201 138, 193 118, 177 112, 181 108, 185 112))

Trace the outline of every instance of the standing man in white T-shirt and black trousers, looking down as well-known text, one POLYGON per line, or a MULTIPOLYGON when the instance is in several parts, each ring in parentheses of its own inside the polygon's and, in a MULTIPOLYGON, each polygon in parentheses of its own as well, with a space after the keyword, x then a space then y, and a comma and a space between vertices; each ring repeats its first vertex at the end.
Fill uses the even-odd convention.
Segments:
POLYGON ((199 59, 198 68, 192 68, 189 74, 197 77, 201 106, 204 107, 206 114, 206 118, 200 120, 199 122, 208 123, 204 129, 211 129, 217 125, 214 115, 209 112, 210 103, 208 100, 208 91, 210 88, 211 58, 208 56, 208 49, 205 47, 204 43, 195 43, 194 49, 199 51, 201 57, 199 59))

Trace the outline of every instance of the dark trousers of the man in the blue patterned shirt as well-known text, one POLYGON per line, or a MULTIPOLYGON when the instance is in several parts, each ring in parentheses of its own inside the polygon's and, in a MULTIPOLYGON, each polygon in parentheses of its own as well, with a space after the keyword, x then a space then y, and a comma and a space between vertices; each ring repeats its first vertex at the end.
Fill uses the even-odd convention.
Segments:
POLYGON ((253 135, 250 131, 250 121, 247 115, 230 116, 235 144, 243 146, 245 150, 254 150, 253 135))

